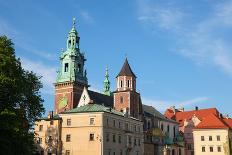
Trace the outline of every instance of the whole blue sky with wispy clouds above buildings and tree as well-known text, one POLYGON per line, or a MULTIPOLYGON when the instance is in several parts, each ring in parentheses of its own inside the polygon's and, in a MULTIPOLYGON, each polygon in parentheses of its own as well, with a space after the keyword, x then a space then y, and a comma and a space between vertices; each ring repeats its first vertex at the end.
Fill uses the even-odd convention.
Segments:
POLYGON ((0 0, 0 34, 12 38, 24 68, 43 76, 47 111, 73 17, 91 89, 102 90, 109 66, 115 90, 127 56, 144 104, 232 115, 232 1, 0 0))

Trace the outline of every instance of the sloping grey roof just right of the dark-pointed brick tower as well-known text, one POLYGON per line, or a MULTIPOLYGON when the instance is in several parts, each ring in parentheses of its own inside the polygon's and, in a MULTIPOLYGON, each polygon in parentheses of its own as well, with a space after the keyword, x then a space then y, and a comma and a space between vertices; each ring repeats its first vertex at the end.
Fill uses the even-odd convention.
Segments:
POLYGON ((149 106, 149 105, 145 105, 143 104, 143 110, 144 110, 144 114, 148 116, 154 116, 156 118, 165 120, 165 121, 169 121, 169 122, 173 122, 173 123, 178 123, 172 119, 166 118, 163 114, 161 114, 158 110, 156 110, 153 106, 149 106))

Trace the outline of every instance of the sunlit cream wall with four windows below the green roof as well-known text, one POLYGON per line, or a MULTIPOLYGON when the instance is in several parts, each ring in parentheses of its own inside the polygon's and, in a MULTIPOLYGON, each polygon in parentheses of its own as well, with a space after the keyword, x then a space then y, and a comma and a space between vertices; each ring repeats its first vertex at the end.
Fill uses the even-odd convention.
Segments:
POLYGON ((101 155, 102 137, 102 113, 76 113, 62 114, 62 142, 63 153, 70 150, 71 155, 101 155), (94 124, 90 125, 90 118, 94 118, 94 124), (67 119, 71 119, 71 126, 67 126, 67 119), (89 140, 90 133, 94 134, 94 140, 89 140), (66 135, 71 135, 71 141, 66 142, 66 135))

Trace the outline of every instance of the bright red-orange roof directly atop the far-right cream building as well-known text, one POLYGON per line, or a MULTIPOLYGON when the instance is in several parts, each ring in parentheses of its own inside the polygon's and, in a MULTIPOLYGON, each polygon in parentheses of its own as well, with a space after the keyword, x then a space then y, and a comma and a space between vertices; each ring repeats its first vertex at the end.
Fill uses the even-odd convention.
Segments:
POLYGON ((209 114, 196 126, 196 129, 228 129, 229 126, 214 114, 209 114))

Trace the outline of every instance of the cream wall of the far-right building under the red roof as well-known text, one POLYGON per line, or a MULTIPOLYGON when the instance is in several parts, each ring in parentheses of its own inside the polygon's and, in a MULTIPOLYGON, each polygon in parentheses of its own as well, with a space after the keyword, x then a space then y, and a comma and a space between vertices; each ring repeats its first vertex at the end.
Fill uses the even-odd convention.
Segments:
POLYGON ((194 129, 193 139, 195 155, 227 155, 223 147, 227 138, 227 129, 194 129), (220 136, 220 141, 217 141, 217 135, 220 136), (201 141, 201 136, 204 136, 204 141, 201 141), (209 141, 209 136, 212 136, 212 141, 209 141), (202 152, 202 146, 205 146, 205 152, 202 152), (210 146, 213 146, 213 152, 209 151, 210 146), (221 146, 221 152, 217 151, 218 146, 221 146))

